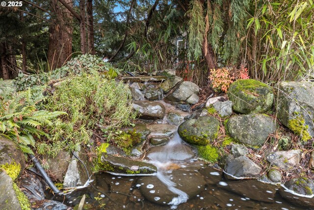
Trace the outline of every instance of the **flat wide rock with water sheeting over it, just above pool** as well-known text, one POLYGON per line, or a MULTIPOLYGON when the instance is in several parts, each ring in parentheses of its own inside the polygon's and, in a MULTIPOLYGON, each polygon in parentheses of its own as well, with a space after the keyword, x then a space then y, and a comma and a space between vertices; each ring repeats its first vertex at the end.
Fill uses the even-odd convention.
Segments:
POLYGON ((190 147, 179 144, 175 148, 168 148, 166 146, 152 147, 145 155, 148 160, 157 160, 160 162, 167 161, 185 161, 195 157, 195 153, 190 147), (171 151, 171 152, 170 152, 171 151))

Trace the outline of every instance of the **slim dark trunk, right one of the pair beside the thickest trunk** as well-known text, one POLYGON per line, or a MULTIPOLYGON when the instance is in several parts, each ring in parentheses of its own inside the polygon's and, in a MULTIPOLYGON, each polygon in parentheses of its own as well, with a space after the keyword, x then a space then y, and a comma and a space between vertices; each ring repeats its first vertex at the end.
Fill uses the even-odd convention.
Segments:
POLYGON ((86 16, 87 16, 88 52, 92 55, 95 55, 93 0, 87 0, 86 2, 86 16))

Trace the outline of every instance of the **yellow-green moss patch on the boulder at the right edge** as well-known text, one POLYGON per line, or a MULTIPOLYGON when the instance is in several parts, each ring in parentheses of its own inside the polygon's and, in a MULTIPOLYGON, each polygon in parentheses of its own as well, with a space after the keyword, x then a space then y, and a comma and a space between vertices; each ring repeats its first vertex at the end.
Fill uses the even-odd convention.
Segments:
POLYGON ((303 141, 308 141, 311 139, 308 128, 309 125, 305 125, 305 120, 301 116, 297 116, 294 119, 288 120, 288 128, 293 131, 293 133, 301 136, 303 141))

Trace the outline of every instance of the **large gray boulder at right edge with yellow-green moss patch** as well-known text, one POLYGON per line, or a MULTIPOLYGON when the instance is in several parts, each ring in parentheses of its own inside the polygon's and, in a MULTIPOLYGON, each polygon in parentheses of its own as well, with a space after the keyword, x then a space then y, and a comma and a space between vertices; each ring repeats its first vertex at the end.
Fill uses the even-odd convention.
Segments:
POLYGON ((314 82, 281 82, 278 119, 303 140, 314 136, 314 82))

